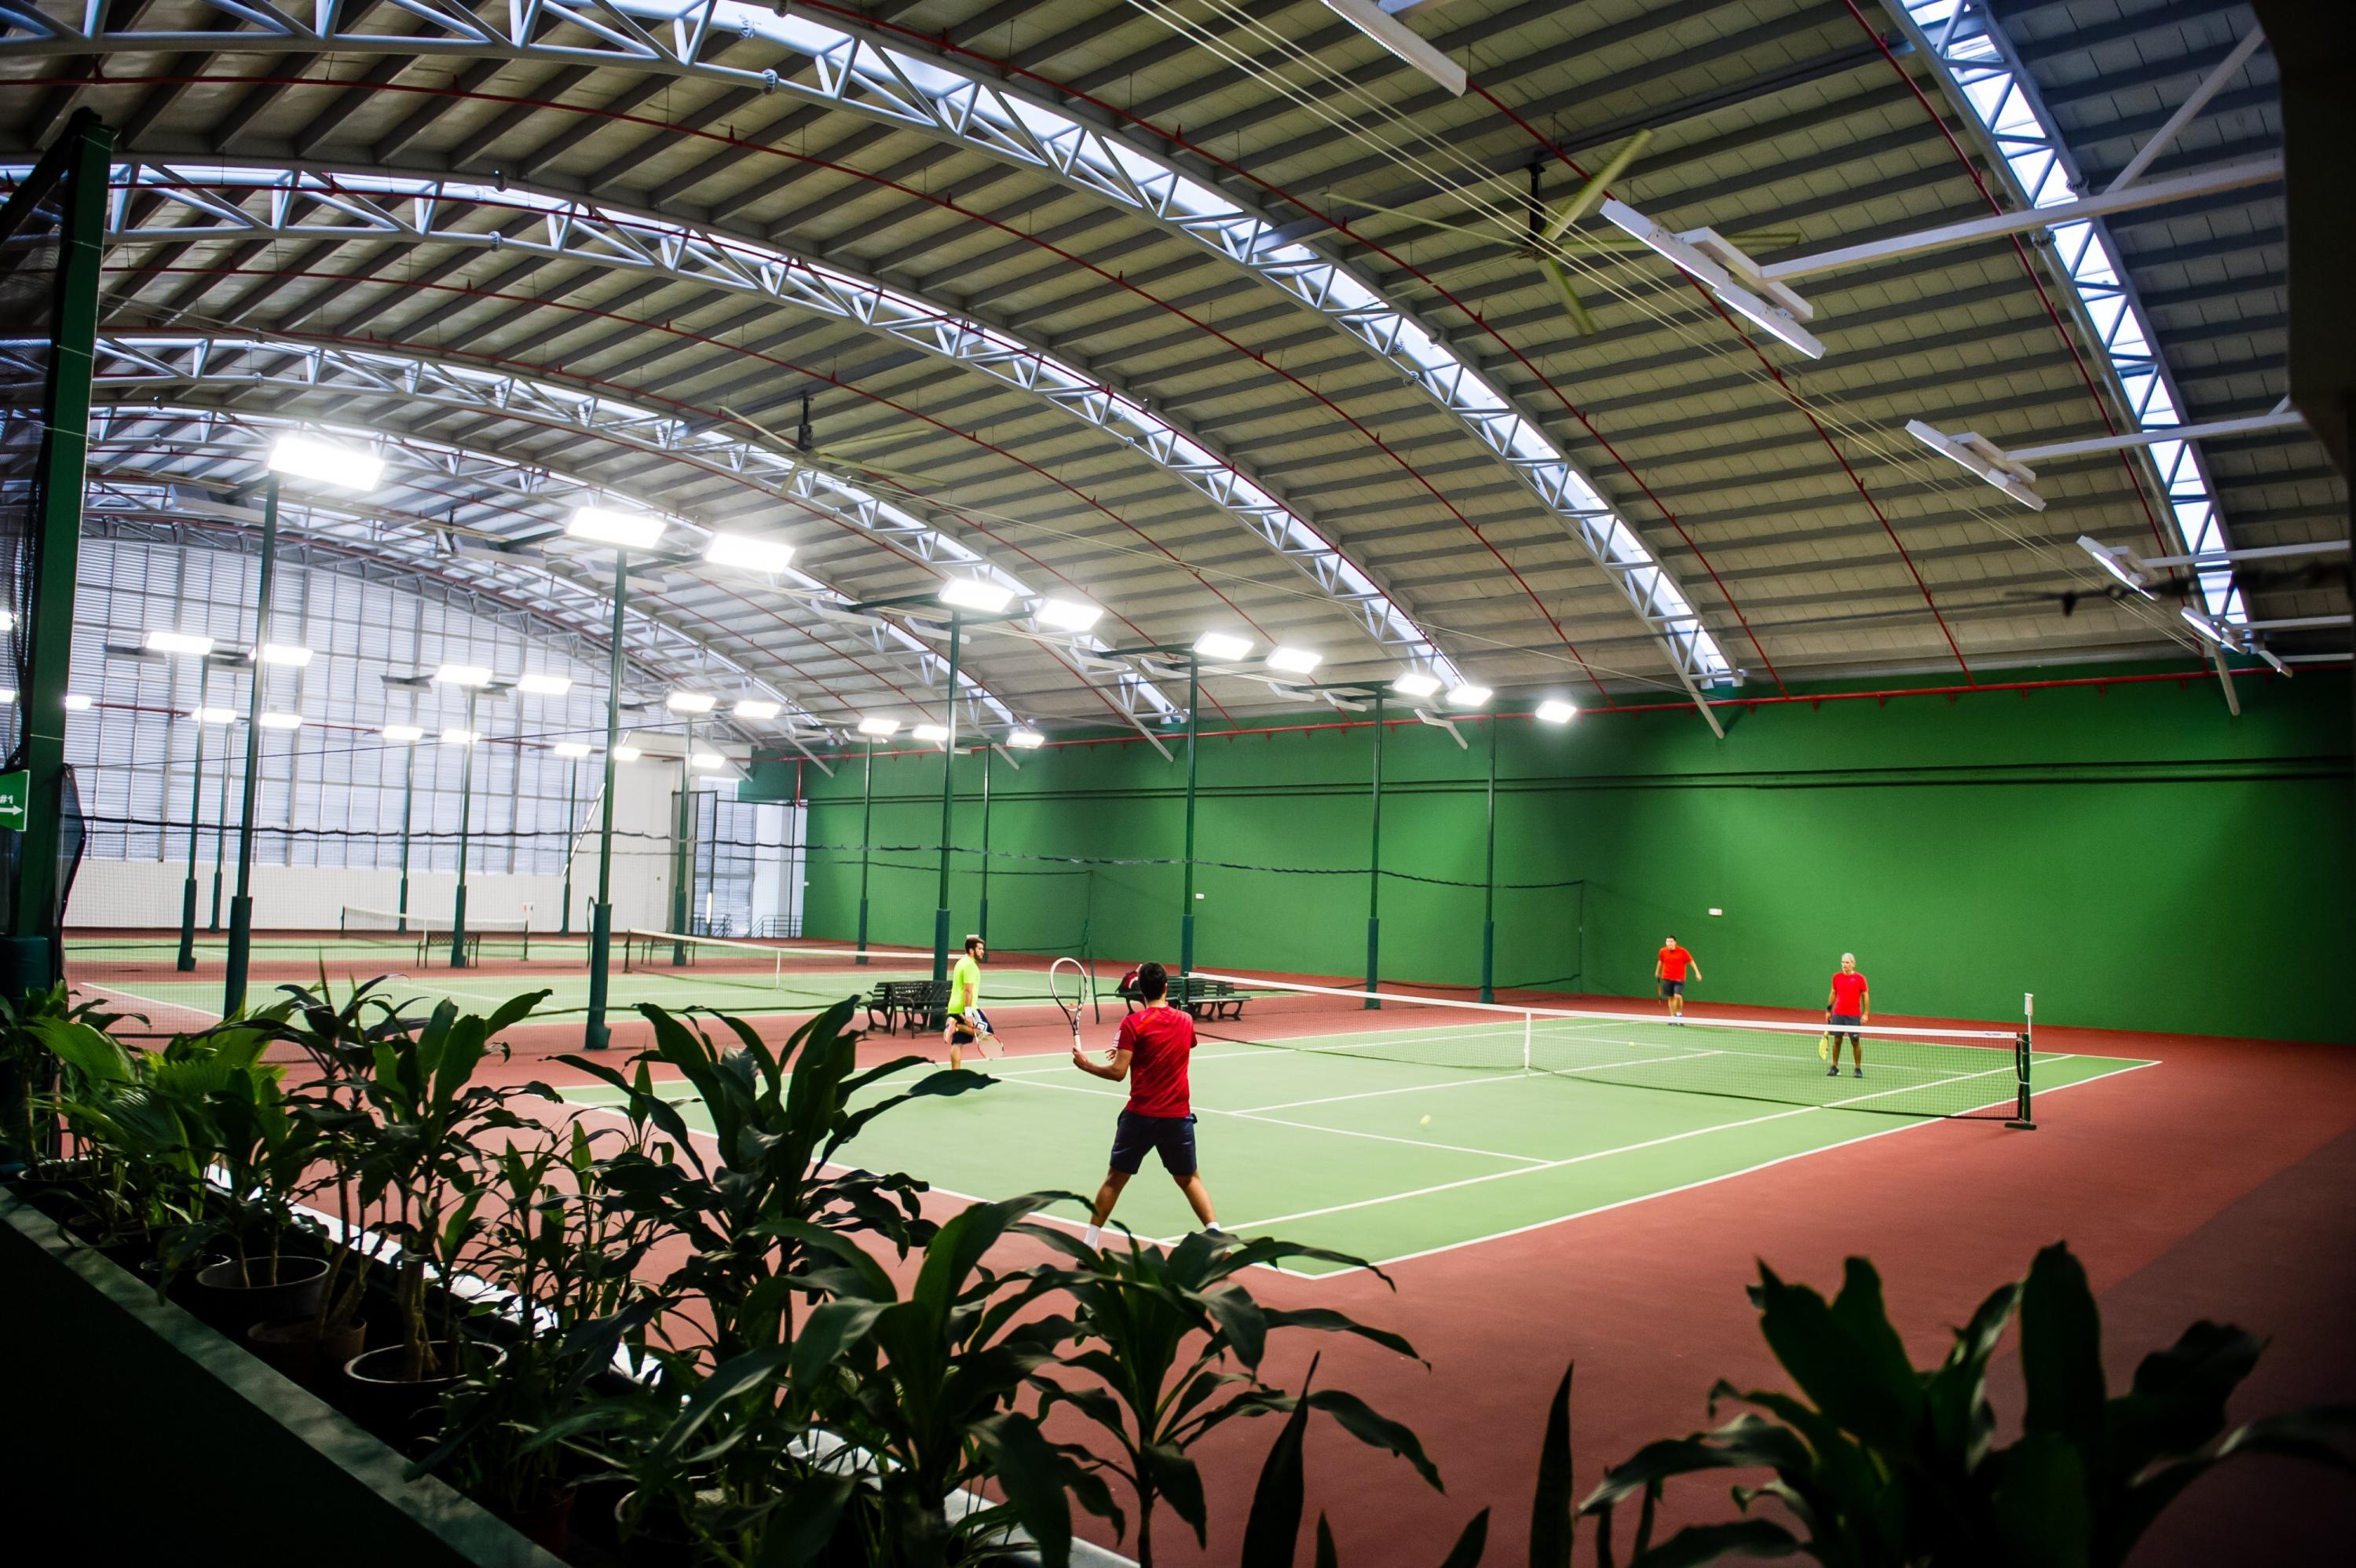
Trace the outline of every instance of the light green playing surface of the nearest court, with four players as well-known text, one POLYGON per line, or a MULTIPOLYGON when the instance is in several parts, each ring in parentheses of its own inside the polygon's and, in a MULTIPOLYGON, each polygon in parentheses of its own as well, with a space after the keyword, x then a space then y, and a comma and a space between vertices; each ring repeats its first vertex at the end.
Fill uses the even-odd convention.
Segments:
MULTIPOLYGON (((1864 1137, 1965 1132, 1908 1132, 1937 1118, 1842 1104, 1882 1092, 1871 1045, 1864 1081, 1847 1071, 1838 1081, 1826 1078, 1814 1048, 1805 1059, 1791 1059, 1791 1092, 1821 1102, 1783 1104, 1609 1083, 1574 1071, 1430 1067, 1348 1055, 1359 1045, 1392 1050, 1397 1034, 1326 1034, 1293 1043, 1315 1050, 1223 1041, 1197 1048, 1197 1144, 1223 1227, 1397 1262, 1864 1137)), ((1105 1031, 1088 1034, 1091 1045, 1103 1038, 1105 1031)), ((1633 1043, 1614 1045, 1626 1055, 1633 1043)), ((1635 1050, 1656 1050, 1666 1059, 1692 1045, 1673 1036, 1635 1050)), ((2007 1102, 2012 1057, 1988 1055, 2000 1057, 2003 1069, 2000 1088, 1988 1099, 2007 1102)), ((973 1067, 999 1083, 959 1097, 914 1099, 876 1118, 851 1156, 869 1170, 909 1170, 971 1198, 1034 1189, 1096 1191, 1126 1090, 1074 1071, 1060 1052, 973 1067)), ((2149 1062, 2038 1052, 2033 1081, 2045 1095, 2137 1067, 2149 1062)), ((617 1099, 601 1085, 565 1095, 580 1104, 617 1099)), ((683 1109, 695 1125, 700 1107, 688 1102, 683 1109)), ((2057 1114, 2069 1114, 2066 1102, 2057 1114)), ((2003 1132, 1996 1123, 1974 1123, 1972 1135, 2040 1137, 2003 1132)), ((1077 1210, 1058 1215, 1074 1224, 1084 1220, 1077 1210)), ((1129 1184, 1114 1220, 1157 1238, 1192 1229, 1185 1201, 1152 1158, 1129 1184)), ((1310 1264, 1308 1271, 1331 1269, 1310 1264)))

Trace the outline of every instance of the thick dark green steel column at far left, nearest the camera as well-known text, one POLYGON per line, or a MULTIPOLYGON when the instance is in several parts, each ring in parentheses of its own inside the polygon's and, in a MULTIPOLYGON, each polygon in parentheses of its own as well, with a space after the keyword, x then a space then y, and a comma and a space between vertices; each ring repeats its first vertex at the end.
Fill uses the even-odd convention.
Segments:
POLYGON ((106 162, 113 132, 78 111, 66 134, 35 167, 35 179, 7 202, 9 228, 47 186, 47 167, 64 167, 66 221, 57 259, 57 353, 49 356, 47 414, 40 438, 40 518, 33 525, 33 612, 26 626, 26 669, 19 723, 26 793, 24 852, 7 911, 5 989, 14 996, 59 979, 52 939, 59 925, 57 848, 64 817, 66 680, 73 664, 73 577, 82 549, 82 473, 90 464, 90 372, 99 337, 99 268, 106 233, 106 162))

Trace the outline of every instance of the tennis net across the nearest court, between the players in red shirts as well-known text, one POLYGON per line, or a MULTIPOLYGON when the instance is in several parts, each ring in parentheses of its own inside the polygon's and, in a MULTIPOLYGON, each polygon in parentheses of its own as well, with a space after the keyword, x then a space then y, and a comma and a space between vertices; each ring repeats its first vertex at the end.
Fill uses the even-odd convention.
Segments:
POLYGON ((1194 1010, 1204 1038, 1428 1067, 1579 1078, 1890 1116, 2029 1118, 2029 1031, 1868 1024, 1864 1069, 1816 1022, 1517 1008, 1409 991, 1350 991, 1197 970, 1232 986, 1194 1010), (1381 1001, 1381 1012, 1366 1008, 1381 1001), (1213 1017, 1225 1012, 1225 1017, 1213 1017), (1381 1024, 1376 1026, 1376 1019, 1381 1024))

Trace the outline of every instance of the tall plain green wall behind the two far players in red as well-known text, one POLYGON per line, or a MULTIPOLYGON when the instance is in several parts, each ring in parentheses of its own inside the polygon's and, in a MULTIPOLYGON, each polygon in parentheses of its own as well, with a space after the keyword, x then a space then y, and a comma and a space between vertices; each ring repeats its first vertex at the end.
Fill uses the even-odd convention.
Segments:
MULTIPOLYGON (((2054 671, 2087 673, 2087 671, 2054 671)), ((2125 671, 2097 671, 2125 673, 2125 671)), ((1833 690, 1833 687, 1826 687, 1833 690)), ((1498 730, 1498 984, 1647 996, 1677 935, 1696 996, 1821 1005, 1857 951, 1890 1012, 2285 1038, 2356 1036, 2330 979, 2351 937, 2349 685, 2342 673, 1689 711, 1588 713, 1498 730), (1722 916, 1710 916, 1710 909, 1722 916)), ((1324 716, 1331 718, 1331 716, 1324 716)), ((1322 723, 1322 720, 1310 720, 1322 723)), ((1383 975, 1480 977, 1487 723, 1470 749, 1385 732, 1383 864, 1458 878, 1383 885, 1383 975)), ((1197 965, 1359 975, 1366 951, 1371 727, 1206 737, 1197 965), (1315 871, 1355 871, 1319 876, 1315 871)), ((1143 744, 1070 744, 992 765, 990 935, 1046 951, 1086 925, 1100 968, 1178 956, 1173 859, 1185 770, 1143 744), (1030 871, 1030 873, 1018 873, 1030 871)), ((872 928, 931 944, 938 753, 874 763, 872 928)), ((957 833, 980 845, 980 758, 957 760, 957 833)), ((803 770, 806 930, 858 925, 860 758, 803 770)), ((787 796, 761 768, 747 798, 787 796)), ((957 857, 952 935, 978 923, 957 857)))

